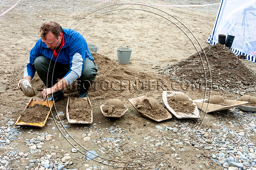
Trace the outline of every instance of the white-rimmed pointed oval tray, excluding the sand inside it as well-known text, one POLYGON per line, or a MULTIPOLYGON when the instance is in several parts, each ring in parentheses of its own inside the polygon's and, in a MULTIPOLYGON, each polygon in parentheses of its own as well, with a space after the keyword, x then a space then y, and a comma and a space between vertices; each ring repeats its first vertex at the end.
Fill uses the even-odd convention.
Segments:
MULTIPOLYGON (((193 102, 193 105, 195 105, 195 109, 194 109, 194 111, 193 111, 194 114, 176 112, 176 111, 174 111, 174 110, 169 106, 167 97, 173 96, 174 94, 177 94, 177 93, 184 94, 183 92, 178 92, 178 91, 163 91, 162 98, 163 98, 163 103, 164 103, 164 105, 166 106, 166 108, 167 108, 175 117, 177 117, 178 119, 185 119, 185 118, 199 119, 199 118, 200 118, 200 113, 199 113, 199 110, 197 109, 196 103, 194 103, 194 102, 193 102)), ((184 94, 184 95, 186 95, 186 94, 184 94)), ((187 95, 186 95, 186 96, 187 96, 187 95)), ((189 99, 190 101, 193 101, 189 96, 188 96, 188 99, 189 99)))

